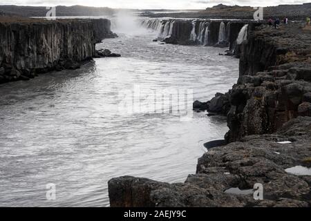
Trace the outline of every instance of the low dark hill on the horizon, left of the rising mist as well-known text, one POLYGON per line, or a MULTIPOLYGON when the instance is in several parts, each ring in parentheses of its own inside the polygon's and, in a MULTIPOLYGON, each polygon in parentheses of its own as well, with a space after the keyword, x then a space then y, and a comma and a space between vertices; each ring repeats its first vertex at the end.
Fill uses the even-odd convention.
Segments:
MULTIPOLYGON (((22 17, 44 17, 48 10, 37 6, 0 6, 0 11, 22 17)), ((115 11, 112 8, 87 6, 56 6, 56 16, 109 16, 115 11)))

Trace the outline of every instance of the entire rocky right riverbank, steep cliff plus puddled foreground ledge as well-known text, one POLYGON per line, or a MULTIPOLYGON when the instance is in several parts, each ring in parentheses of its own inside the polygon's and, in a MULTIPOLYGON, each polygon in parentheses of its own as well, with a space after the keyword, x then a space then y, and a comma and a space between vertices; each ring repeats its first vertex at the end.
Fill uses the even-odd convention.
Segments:
POLYGON ((110 180, 111 206, 310 206, 310 32, 261 26, 247 36, 238 84, 214 102, 226 105, 229 144, 203 155, 185 183, 110 180))

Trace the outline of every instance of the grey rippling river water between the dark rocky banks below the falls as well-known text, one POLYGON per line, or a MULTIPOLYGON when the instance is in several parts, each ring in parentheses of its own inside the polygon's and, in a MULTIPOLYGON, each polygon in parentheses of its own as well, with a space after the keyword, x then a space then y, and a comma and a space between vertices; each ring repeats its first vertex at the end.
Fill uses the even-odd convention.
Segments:
POLYGON ((118 34, 97 47, 120 58, 0 85, 0 206, 109 206, 111 178, 183 182, 203 144, 225 135, 223 117, 121 115, 118 97, 141 85, 189 88, 205 101, 236 82, 237 59, 219 56, 220 48, 152 42, 152 32, 118 34))

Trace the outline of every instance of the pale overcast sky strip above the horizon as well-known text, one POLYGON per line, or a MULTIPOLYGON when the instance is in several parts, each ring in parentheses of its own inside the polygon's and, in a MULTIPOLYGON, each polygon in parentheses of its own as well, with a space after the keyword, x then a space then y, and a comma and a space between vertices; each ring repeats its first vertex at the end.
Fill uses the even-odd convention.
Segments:
POLYGON ((1 0, 0 5, 21 6, 101 6, 111 8, 203 9, 218 3, 239 6, 275 6, 285 3, 306 3, 311 0, 1 0))

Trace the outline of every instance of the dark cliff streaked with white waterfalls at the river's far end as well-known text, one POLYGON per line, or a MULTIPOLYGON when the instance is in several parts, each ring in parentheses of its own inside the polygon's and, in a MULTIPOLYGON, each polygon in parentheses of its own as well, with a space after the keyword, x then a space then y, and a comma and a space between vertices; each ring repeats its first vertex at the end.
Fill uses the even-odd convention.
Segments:
POLYGON ((145 19, 142 26, 157 30, 158 40, 168 44, 220 46, 234 50, 238 34, 247 23, 257 24, 209 19, 145 19))

